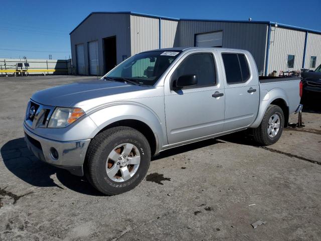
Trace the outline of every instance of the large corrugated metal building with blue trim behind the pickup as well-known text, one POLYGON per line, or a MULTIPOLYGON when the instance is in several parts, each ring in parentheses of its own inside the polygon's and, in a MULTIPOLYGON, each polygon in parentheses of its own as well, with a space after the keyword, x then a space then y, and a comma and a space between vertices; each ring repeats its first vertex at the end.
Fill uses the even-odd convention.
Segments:
POLYGON ((320 31, 274 22, 95 12, 70 33, 70 41, 76 73, 84 75, 103 75, 131 55, 171 47, 246 49, 264 75, 321 64, 320 31))

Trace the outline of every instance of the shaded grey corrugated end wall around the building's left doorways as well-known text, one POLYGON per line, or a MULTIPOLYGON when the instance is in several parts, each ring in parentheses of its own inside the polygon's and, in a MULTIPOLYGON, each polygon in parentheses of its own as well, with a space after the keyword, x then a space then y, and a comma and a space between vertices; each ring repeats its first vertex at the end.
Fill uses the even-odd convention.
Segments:
MULTIPOLYGON (((117 64, 122 56, 129 57, 130 52, 130 15, 129 14, 92 14, 74 32, 70 34, 71 53, 76 60, 75 46, 85 45, 85 74, 89 74, 88 42, 98 40, 99 75, 103 75, 104 54, 103 39, 116 36, 117 64)), ((73 62, 77 65, 77 62, 73 62)))

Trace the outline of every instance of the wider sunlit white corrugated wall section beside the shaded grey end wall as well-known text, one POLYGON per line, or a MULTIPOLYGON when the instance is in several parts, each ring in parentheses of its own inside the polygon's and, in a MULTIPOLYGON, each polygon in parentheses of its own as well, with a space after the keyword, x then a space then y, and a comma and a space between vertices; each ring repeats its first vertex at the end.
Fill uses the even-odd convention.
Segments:
POLYGON ((147 50, 158 49, 158 18, 130 16, 131 55, 147 50))

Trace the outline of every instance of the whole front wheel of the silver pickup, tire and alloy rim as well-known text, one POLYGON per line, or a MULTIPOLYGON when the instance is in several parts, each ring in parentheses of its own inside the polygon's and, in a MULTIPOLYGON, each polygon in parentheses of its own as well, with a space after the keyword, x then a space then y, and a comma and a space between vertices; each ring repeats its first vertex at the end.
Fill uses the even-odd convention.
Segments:
POLYGON ((150 147, 146 138, 129 127, 98 134, 86 156, 86 176, 100 192, 120 194, 137 186, 147 173, 150 147))

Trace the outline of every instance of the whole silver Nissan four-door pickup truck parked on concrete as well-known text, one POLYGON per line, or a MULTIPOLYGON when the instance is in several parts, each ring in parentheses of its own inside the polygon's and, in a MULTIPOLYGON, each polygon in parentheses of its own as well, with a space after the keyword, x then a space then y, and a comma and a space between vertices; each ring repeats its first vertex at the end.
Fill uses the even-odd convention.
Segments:
POLYGON ((29 149, 107 195, 134 188, 164 150, 248 128, 280 138, 298 112, 300 78, 259 79, 252 55, 223 48, 136 54, 100 80, 36 92, 24 122, 29 149))

